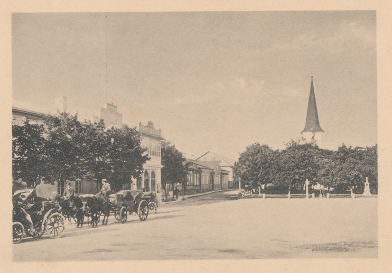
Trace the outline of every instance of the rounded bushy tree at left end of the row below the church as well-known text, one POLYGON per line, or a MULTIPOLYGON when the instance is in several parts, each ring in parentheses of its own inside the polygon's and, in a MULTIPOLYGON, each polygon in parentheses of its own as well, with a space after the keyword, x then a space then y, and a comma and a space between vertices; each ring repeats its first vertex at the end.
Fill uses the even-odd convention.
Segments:
POLYGON ((254 143, 246 147, 235 164, 235 174, 252 188, 270 182, 270 172, 274 164, 275 153, 268 145, 254 143))

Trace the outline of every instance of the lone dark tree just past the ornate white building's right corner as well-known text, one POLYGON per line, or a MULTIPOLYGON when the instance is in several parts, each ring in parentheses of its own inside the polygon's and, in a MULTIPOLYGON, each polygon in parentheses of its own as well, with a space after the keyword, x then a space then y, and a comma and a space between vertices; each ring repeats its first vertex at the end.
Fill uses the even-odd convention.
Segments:
POLYGON ((161 183, 162 189, 165 189, 166 198, 166 185, 170 183, 182 183, 184 185, 188 172, 183 164, 184 159, 182 153, 175 146, 163 144, 161 151, 163 165, 161 170, 161 183))

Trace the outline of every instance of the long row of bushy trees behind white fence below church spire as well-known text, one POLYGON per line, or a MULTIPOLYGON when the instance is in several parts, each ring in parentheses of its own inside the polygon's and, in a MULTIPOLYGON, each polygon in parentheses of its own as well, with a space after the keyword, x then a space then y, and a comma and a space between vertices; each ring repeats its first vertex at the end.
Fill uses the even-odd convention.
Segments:
POLYGON ((235 164, 235 179, 252 187, 272 183, 279 189, 301 189, 306 179, 336 191, 354 187, 362 192, 368 177, 370 190, 377 192, 377 145, 337 151, 320 149, 314 143, 291 141, 284 150, 259 143, 246 147, 235 164))

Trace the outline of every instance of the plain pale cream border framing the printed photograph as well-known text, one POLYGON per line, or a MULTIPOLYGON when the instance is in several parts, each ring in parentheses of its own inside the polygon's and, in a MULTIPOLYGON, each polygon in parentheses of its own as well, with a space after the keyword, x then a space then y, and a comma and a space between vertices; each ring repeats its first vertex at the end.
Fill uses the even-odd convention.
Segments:
MULTIPOLYGON (((392 3, 388 0, 268 0, 268 1, 45 1, 3 0, 0 3, 1 43, 1 269, 2 272, 391 272, 391 96, 392 3), (164 12, 164 11, 304 11, 376 10, 377 20, 377 144, 378 144, 378 258, 377 259, 251 259, 148 260, 89 262, 13 262, 11 231, 11 14, 46 12, 164 12), (9 183, 9 184, 8 184, 9 183)), ((61 245, 59 245, 61 247, 61 245)))

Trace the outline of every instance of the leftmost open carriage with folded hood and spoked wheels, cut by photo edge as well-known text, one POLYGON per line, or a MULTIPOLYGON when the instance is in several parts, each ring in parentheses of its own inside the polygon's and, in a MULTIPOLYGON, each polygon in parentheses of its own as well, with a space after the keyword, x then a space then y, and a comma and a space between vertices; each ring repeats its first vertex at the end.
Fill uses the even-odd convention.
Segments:
POLYGON ((47 232, 58 238, 65 230, 65 219, 59 203, 37 196, 35 189, 15 191, 12 196, 12 242, 19 243, 24 235, 41 237, 47 232))

